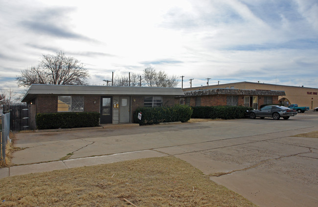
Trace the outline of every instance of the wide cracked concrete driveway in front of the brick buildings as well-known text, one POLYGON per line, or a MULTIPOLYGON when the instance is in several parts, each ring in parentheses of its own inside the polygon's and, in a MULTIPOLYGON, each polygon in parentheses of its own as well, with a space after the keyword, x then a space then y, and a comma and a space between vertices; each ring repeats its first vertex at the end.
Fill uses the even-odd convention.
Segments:
POLYGON ((240 119, 16 134, 14 164, 151 150, 174 155, 263 207, 318 206, 318 112, 289 120, 240 119))

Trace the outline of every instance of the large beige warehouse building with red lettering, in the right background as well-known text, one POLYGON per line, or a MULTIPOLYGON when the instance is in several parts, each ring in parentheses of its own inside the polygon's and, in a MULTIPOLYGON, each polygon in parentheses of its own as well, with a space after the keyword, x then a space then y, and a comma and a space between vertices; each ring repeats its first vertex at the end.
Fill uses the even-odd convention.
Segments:
POLYGON ((244 81, 219 85, 183 88, 183 91, 203 90, 211 88, 285 91, 285 96, 278 97, 278 102, 282 105, 290 105, 297 103, 298 106, 309 106, 310 109, 318 107, 318 88, 308 88, 302 86, 299 87, 244 81))

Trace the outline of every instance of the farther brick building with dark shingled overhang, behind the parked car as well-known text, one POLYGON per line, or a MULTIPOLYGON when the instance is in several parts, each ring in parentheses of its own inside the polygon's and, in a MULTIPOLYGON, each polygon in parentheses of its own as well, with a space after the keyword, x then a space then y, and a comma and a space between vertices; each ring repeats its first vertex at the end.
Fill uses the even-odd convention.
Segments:
POLYGON ((259 109, 262 104, 278 104, 284 91, 212 88, 184 91, 176 102, 189 106, 244 105, 259 109))

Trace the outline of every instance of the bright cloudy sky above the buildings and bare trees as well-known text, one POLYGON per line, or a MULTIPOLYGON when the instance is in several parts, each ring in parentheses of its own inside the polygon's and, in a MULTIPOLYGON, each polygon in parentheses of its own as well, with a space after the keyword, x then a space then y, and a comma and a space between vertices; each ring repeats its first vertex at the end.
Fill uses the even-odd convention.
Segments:
POLYGON ((21 70, 59 51, 90 84, 151 66, 183 87, 318 88, 318 0, 0 0, 0 49, 1 90, 22 90, 21 70))

